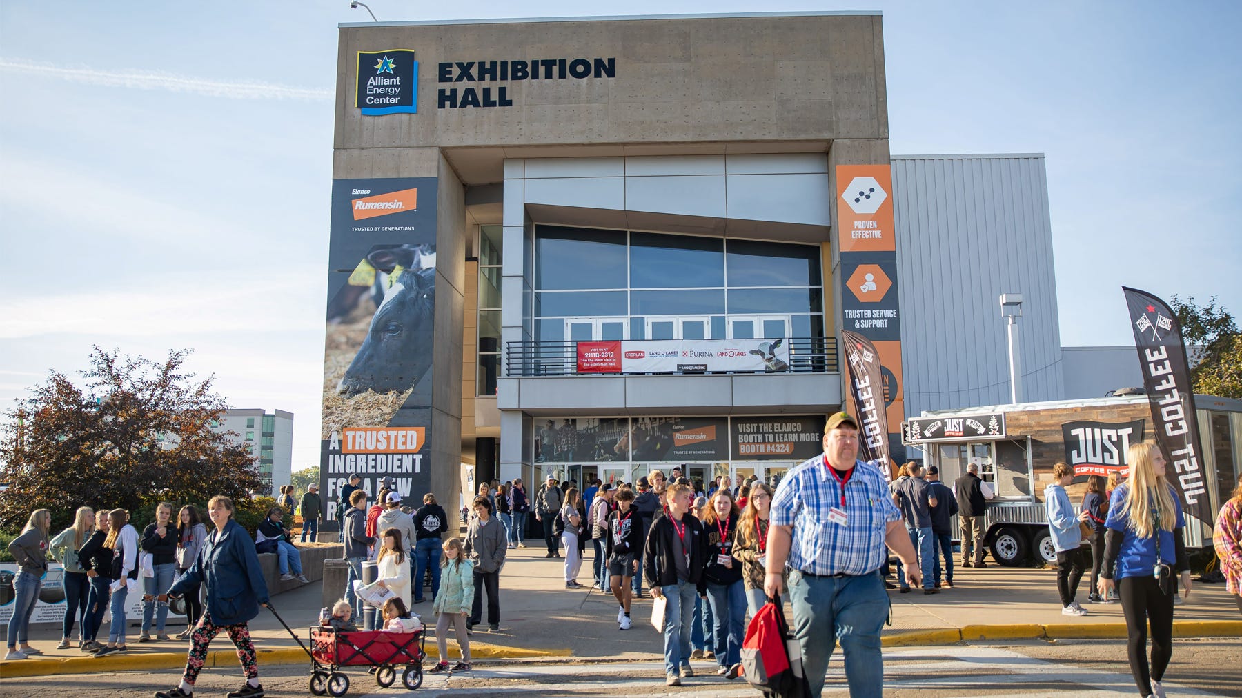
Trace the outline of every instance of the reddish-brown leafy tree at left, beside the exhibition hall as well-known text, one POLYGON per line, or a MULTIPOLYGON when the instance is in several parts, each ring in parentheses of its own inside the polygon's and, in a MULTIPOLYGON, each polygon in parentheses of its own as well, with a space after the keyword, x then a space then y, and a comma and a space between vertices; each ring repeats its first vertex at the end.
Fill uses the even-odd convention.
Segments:
POLYGON ((227 409, 211 378, 185 371, 188 350, 164 361, 96 347, 81 385, 58 371, 5 414, 0 428, 0 525, 46 508, 53 525, 77 507, 248 499, 263 483, 245 446, 212 426, 227 409))

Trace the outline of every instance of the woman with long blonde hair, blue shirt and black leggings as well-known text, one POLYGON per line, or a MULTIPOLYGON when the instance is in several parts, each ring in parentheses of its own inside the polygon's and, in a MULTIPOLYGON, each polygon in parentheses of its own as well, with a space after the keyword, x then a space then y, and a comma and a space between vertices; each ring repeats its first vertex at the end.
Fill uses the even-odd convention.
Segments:
POLYGON ((1182 540, 1181 502, 1165 479, 1165 458, 1151 443, 1126 451, 1130 478, 1117 486, 1109 503, 1099 594, 1115 585, 1129 631, 1130 673, 1143 696, 1164 698, 1160 681, 1172 657, 1175 570, 1190 595, 1190 561, 1182 540), (1115 563, 1115 571, 1114 571, 1115 563), (1148 623, 1151 662, 1148 663, 1148 623))

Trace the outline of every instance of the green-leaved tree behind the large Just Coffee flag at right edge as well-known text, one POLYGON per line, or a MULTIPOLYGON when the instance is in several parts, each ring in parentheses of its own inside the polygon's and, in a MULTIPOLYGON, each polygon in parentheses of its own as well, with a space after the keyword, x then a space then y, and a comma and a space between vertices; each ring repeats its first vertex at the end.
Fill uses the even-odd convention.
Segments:
POLYGON ((1242 397, 1242 333, 1233 315, 1216 296, 1205 306, 1196 303, 1194 297, 1174 296, 1170 306, 1181 324, 1195 392, 1242 397))

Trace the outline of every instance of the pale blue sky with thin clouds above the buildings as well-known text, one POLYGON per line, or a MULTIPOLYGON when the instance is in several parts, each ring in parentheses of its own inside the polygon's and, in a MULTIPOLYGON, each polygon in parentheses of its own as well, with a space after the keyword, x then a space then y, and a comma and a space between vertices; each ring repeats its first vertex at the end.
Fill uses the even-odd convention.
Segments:
MULTIPOLYGON (((1242 313, 1240 4, 369 4, 879 9, 894 154, 1047 155, 1062 344, 1130 344, 1122 284, 1242 313)), ((294 469, 318 462, 337 24, 368 19, 348 0, 0 4, 0 406, 92 344, 194 348, 235 406, 296 414, 294 469)))

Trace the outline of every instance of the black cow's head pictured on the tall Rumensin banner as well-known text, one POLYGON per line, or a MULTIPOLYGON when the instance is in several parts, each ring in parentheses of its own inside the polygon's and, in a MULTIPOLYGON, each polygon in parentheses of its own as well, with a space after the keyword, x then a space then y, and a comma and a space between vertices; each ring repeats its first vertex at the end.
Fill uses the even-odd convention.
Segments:
MULTIPOLYGON (((435 255, 430 260, 433 263, 435 255)), ((395 267, 392 267, 395 268, 395 267)), ((436 270, 402 270, 385 278, 384 298, 337 392, 351 396, 368 390, 407 390, 431 368, 436 270)))

